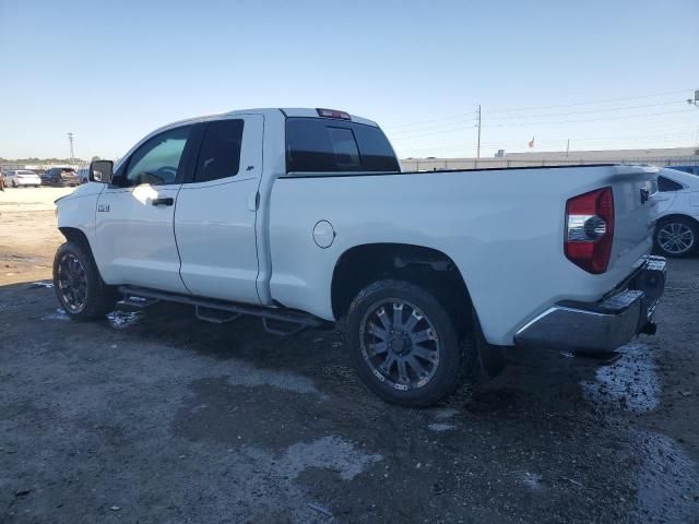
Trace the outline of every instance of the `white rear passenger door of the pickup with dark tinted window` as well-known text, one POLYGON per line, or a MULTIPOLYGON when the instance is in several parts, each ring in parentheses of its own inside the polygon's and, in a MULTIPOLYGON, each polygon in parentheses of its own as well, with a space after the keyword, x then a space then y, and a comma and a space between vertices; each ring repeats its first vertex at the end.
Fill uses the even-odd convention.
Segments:
POLYGON ((205 123, 175 210, 180 275, 193 295, 260 302, 254 222, 263 124, 261 115, 205 123))

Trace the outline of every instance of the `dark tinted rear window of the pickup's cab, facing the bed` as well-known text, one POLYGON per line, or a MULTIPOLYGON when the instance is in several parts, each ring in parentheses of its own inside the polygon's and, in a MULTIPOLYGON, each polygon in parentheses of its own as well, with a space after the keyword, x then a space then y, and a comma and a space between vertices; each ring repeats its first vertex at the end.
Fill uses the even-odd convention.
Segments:
POLYGON ((286 120, 287 172, 399 170, 379 128, 324 118, 286 120))

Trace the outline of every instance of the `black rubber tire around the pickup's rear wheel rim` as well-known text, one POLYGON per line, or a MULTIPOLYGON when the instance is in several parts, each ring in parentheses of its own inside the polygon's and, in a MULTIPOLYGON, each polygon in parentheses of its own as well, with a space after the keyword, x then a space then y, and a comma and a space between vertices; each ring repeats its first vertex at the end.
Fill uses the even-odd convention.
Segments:
MULTIPOLYGON (((383 321, 381 320, 380 322, 383 321)), ((401 327, 405 326, 402 320, 400 321, 400 325, 401 327)), ((378 281, 369 284, 359 291, 350 306, 345 321, 345 333, 357 374, 369 390, 392 404, 423 407, 437 403, 457 390, 464 378, 465 369, 470 366, 469 362, 473 361, 471 358, 473 345, 460 343, 457 335, 454 318, 445 310, 431 293, 404 281, 378 281), (414 329, 420 329, 423 331, 419 333, 411 331, 411 333, 417 336, 422 333, 429 332, 430 335, 434 336, 434 340, 427 340, 424 341, 424 343, 433 345, 429 350, 431 352, 430 355, 436 355, 433 357, 436 362, 423 360, 424 357, 418 355, 415 349, 418 343, 413 344, 412 337, 407 335, 407 331, 396 329, 395 334, 392 334, 394 331, 386 327, 386 324, 378 327, 377 322, 370 322, 372 318, 380 319, 382 313, 378 313, 378 311, 389 303, 392 303, 393 308, 396 308, 396 305, 401 305, 399 309, 400 314, 407 314, 405 324, 410 324, 413 321, 412 314, 414 314, 416 319, 420 319, 415 321, 416 324, 414 329), (405 306, 407 306, 408 311, 412 310, 410 314, 403 311, 405 306), (375 325, 371 326, 371 324, 375 325), (429 327, 426 329, 426 326, 429 327), (392 344, 389 342, 379 342, 379 344, 367 343, 365 337, 375 337, 374 341, 380 340, 380 337, 376 335, 377 327, 383 334, 391 333, 387 336, 391 337, 390 341, 393 343, 393 347, 400 343, 401 352, 403 352, 400 356, 395 357, 396 353, 394 349, 387 349, 386 352, 379 352, 374 356, 369 356, 367 346, 386 344, 389 348, 392 347, 392 344), (404 342, 400 342, 401 340, 404 342), (382 356, 383 353, 386 357, 382 356), (391 374, 390 372, 383 373, 383 371, 379 371, 384 369, 384 365, 391 355, 393 355, 393 358, 403 360, 412 358, 414 361, 415 356, 413 354, 420 359, 420 365, 425 367, 429 366, 429 373, 418 374, 417 368, 412 367, 413 365, 403 364, 405 374, 414 379, 413 381, 415 383, 406 384, 406 382, 411 382, 411 380, 402 381, 400 378, 392 381, 389 377, 389 374, 391 374), (382 365, 377 366, 372 358, 379 360, 384 358, 384 361, 382 365), (429 377, 427 377, 427 374, 429 374, 429 377), (420 382, 424 383, 420 384, 420 382)), ((419 347, 420 352, 423 352, 423 347, 419 347)), ((396 368, 395 373, 399 374, 400 369, 398 361, 391 360, 391 364, 388 365, 389 370, 393 369, 393 367, 396 368)))

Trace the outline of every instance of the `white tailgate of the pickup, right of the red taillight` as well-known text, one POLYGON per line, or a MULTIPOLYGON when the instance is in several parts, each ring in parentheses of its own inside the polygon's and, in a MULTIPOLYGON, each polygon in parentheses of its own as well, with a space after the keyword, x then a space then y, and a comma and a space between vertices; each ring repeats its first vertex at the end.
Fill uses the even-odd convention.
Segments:
POLYGON ((657 216, 657 169, 616 166, 614 191, 614 245, 609 270, 632 267, 650 252, 657 216))

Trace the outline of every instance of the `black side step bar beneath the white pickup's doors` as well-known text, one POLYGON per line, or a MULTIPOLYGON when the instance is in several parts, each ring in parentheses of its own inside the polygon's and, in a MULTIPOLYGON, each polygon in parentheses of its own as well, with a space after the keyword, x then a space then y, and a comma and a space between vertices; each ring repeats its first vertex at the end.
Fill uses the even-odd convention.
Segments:
POLYGON ((232 322, 241 314, 261 317, 264 329, 275 335, 293 335, 306 327, 320 327, 328 324, 325 320, 295 309, 264 308, 262 306, 180 295, 138 286, 120 286, 119 291, 125 295, 125 299, 119 302, 123 306, 144 308, 159 300, 186 303, 196 308, 197 318, 208 322, 232 322), (271 327, 269 324, 271 320, 293 324, 294 326, 291 330, 271 327))

